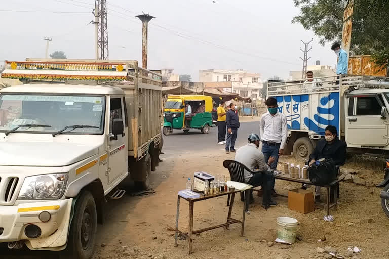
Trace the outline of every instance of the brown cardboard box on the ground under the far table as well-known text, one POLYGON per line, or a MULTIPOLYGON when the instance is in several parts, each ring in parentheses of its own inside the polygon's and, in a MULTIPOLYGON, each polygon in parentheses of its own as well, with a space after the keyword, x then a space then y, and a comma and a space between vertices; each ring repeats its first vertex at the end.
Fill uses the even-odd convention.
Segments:
POLYGON ((288 192, 288 208, 300 213, 310 213, 315 210, 313 191, 292 189, 288 192))

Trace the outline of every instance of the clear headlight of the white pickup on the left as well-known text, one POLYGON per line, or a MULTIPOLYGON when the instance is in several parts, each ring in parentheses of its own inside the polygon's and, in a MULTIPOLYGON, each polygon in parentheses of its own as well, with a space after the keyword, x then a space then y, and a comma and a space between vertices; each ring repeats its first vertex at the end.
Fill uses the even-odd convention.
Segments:
POLYGON ((68 174, 26 177, 18 200, 59 199, 66 189, 68 174))

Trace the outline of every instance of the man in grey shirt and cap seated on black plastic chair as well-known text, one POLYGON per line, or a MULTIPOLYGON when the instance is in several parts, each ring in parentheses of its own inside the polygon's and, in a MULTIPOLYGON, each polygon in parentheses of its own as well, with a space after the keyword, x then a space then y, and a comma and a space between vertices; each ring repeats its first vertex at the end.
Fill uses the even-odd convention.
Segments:
MULTIPOLYGON (((270 157, 268 163, 265 163, 265 157, 260 149, 260 138, 257 134, 251 133, 248 137, 249 143, 237 150, 235 155, 235 161, 245 165, 249 170, 255 171, 254 174, 245 170, 245 182, 257 187, 263 184, 267 185, 267 190, 273 190, 274 188, 274 176, 271 172, 267 171, 270 168, 270 164, 274 162, 274 157, 270 157), (263 173, 265 172, 266 173, 263 173)), ((254 198, 251 193, 250 202, 253 202, 254 198)), ((270 200, 270 206, 276 206, 277 203, 270 200)), ((263 206, 263 203, 262 203, 263 206)))

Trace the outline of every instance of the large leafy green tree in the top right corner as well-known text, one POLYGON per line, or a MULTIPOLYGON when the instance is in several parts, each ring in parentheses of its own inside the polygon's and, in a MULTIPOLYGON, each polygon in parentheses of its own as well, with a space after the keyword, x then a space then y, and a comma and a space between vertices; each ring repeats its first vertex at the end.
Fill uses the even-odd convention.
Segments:
MULTIPOLYGON (((313 30, 322 45, 341 41, 343 12, 347 0, 293 0, 300 14, 292 20, 304 29, 313 30)), ((354 2, 351 33, 352 55, 373 55, 377 65, 389 61, 389 1, 354 2)))

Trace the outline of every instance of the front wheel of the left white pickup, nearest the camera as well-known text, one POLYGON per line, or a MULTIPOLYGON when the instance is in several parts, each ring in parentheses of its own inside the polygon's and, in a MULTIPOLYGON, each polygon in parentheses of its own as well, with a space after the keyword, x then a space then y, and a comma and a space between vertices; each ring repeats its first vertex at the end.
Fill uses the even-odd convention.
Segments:
POLYGON ((82 191, 74 207, 69 239, 63 258, 89 259, 96 242, 96 203, 89 191, 82 191), (65 256, 66 255, 66 256, 65 256))

